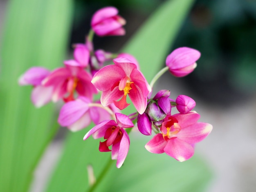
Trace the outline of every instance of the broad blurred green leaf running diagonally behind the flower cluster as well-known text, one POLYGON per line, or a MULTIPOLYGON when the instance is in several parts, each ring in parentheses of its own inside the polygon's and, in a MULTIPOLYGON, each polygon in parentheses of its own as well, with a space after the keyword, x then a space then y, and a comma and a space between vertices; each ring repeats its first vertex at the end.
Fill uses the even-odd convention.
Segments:
MULTIPOLYGON (((147 80, 152 79, 164 65, 168 48, 192 2, 166 1, 125 46, 124 51, 138 59, 147 80)), ((126 110, 127 114, 131 112, 130 108, 126 110)), ((87 165, 92 166, 97 181, 101 172, 105 172, 104 167, 110 166, 110 172, 106 172, 106 177, 94 188, 96 191, 202 191, 209 180, 207 167, 196 156, 180 163, 166 154, 151 154, 144 149, 150 137, 136 134, 131 134, 130 150, 124 166, 117 169, 116 161, 109 161, 110 153, 98 151, 99 140, 91 137, 82 140, 91 127, 68 134, 63 156, 49 182, 48 192, 89 190, 87 165)))

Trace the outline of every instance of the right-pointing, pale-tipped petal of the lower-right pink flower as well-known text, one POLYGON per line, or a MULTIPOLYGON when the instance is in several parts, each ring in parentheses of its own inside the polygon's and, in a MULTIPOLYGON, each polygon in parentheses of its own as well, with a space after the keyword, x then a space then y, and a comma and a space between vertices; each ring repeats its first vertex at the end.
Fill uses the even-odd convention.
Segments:
POLYGON ((198 122, 189 127, 182 127, 177 136, 186 143, 198 143, 210 134, 212 128, 209 123, 198 122))

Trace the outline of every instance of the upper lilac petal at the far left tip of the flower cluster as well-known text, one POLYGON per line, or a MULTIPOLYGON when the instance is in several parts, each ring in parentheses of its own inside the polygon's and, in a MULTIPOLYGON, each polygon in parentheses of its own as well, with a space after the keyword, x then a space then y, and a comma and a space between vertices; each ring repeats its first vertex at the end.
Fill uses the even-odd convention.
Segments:
POLYGON ((20 85, 41 85, 41 81, 49 74, 50 71, 43 67, 31 67, 20 76, 18 83, 20 85))

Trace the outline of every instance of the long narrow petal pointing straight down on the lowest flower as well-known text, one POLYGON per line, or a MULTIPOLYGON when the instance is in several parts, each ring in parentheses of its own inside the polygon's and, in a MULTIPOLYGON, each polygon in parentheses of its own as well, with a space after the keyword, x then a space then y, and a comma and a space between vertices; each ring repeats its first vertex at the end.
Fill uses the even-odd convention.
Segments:
POLYGON ((130 139, 128 134, 124 129, 121 129, 121 131, 123 133, 123 136, 121 138, 120 145, 119 145, 119 151, 117 156, 117 168, 120 168, 123 165, 124 160, 126 159, 126 156, 129 151, 129 146, 130 146, 130 139))

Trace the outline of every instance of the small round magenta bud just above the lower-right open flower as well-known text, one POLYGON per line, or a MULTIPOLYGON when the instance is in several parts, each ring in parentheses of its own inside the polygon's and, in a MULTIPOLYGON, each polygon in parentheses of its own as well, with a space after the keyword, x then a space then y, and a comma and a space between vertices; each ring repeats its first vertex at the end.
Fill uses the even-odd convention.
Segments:
POLYGON ((176 98, 177 110, 181 114, 189 113, 195 107, 195 101, 186 95, 179 95, 176 98))

